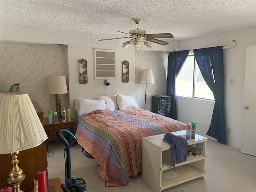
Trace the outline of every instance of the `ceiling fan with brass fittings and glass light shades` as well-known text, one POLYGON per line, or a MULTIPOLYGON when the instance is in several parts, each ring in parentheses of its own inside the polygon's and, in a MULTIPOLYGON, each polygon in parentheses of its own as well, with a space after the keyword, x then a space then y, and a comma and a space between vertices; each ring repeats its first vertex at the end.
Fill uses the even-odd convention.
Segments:
POLYGON ((129 33, 121 32, 124 34, 129 34, 127 37, 120 37, 120 38, 110 38, 110 39, 100 39, 99 41, 104 40, 113 40, 113 39, 124 39, 124 38, 132 38, 130 41, 124 42, 122 48, 127 48, 130 44, 132 44, 135 50, 140 50, 140 42, 144 42, 144 45, 147 48, 152 48, 150 42, 157 43, 160 45, 167 45, 169 42, 162 41, 155 38, 173 38, 173 35, 170 33, 156 33, 156 34, 146 34, 146 31, 143 29, 139 29, 139 24, 142 21, 141 19, 134 19, 135 24, 137 24, 137 29, 130 30, 129 33), (150 41, 150 42, 148 42, 150 41))

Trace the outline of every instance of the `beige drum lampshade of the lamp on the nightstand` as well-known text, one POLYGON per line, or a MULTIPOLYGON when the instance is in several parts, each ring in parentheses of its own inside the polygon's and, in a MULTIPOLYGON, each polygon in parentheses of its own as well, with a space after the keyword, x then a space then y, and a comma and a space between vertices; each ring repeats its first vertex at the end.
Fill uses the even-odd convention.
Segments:
POLYGON ((68 93, 66 77, 50 76, 48 77, 49 94, 64 94, 68 93))

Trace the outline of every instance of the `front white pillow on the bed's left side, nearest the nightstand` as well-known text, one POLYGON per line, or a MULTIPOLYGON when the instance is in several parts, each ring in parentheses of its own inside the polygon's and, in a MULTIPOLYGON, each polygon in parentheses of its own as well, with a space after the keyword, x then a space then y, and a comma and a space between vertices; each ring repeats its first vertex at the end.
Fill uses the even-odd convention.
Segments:
POLYGON ((104 99, 92 100, 79 98, 79 116, 83 116, 95 110, 106 109, 104 99))

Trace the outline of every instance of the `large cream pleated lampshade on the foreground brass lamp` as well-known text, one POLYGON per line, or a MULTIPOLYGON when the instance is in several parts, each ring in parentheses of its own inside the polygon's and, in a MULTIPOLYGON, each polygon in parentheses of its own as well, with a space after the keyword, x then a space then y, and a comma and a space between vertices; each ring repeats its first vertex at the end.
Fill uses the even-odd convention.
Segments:
POLYGON ((47 135, 28 96, 0 94, 0 154, 39 146, 47 135))

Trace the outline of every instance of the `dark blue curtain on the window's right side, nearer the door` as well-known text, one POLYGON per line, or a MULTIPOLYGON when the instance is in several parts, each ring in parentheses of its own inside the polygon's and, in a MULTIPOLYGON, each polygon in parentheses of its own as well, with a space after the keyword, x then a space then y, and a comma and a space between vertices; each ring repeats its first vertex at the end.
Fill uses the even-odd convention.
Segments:
POLYGON ((222 46, 194 49, 196 62, 202 76, 212 90, 215 105, 207 135, 220 143, 227 143, 224 112, 224 63, 222 46))

